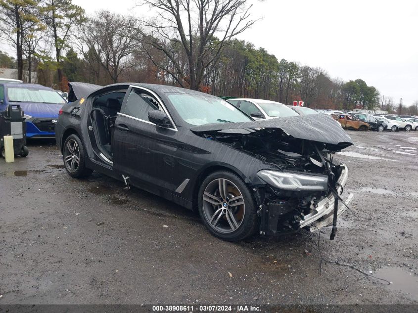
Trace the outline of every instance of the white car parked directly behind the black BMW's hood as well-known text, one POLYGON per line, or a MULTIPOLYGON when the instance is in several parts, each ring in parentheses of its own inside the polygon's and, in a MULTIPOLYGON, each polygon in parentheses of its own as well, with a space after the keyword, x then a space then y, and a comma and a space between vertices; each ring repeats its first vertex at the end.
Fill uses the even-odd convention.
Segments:
POLYGON ((299 115, 283 103, 276 101, 245 98, 229 99, 227 101, 255 120, 299 115))

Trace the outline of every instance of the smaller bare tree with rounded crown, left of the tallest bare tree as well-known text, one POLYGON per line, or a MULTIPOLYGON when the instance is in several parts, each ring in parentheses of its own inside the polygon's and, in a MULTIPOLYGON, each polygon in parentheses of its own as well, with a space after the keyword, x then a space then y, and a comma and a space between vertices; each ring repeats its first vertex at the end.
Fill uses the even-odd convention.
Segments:
POLYGON ((137 20, 131 16, 98 11, 80 29, 80 51, 86 59, 101 65, 113 83, 128 64, 128 56, 138 50, 137 20))

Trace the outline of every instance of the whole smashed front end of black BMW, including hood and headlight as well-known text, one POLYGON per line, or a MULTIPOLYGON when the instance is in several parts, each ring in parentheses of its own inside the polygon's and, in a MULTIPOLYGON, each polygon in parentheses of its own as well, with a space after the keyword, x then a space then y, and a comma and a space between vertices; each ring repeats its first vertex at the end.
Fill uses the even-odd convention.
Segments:
MULTIPOLYGON (((292 123, 297 123, 296 119, 292 123)), ((294 125, 280 120, 276 124, 253 122, 244 125, 253 128, 240 130, 232 125, 222 131, 202 130, 200 134, 250 154, 268 166, 257 172, 265 184, 250 183, 259 206, 260 234, 286 234, 302 228, 314 231, 333 224, 332 240, 337 218, 353 198, 353 194, 346 200, 341 198, 348 170, 344 164, 335 164, 332 155, 350 146, 351 138, 328 117, 321 120, 320 126, 317 121, 312 124, 306 118, 300 119, 305 123, 304 132, 295 132, 294 125), (312 130, 306 127, 309 124, 312 130), (322 141, 312 140, 315 132, 315 138, 322 141)))

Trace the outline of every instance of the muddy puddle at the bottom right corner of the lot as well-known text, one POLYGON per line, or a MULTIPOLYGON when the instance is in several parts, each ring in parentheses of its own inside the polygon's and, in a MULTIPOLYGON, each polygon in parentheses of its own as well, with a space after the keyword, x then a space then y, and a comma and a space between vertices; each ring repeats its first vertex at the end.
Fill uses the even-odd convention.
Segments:
POLYGON ((418 277, 413 272, 401 268, 382 268, 376 271, 374 276, 390 281, 388 289, 407 293, 407 298, 418 301, 418 277))

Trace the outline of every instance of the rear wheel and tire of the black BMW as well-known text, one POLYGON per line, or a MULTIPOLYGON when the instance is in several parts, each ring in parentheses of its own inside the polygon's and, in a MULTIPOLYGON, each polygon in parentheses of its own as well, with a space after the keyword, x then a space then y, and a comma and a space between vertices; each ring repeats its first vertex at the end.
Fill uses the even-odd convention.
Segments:
POLYGON ((68 175, 74 178, 83 178, 92 174, 85 163, 84 147, 80 137, 71 134, 65 139, 62 159, 68 175))

